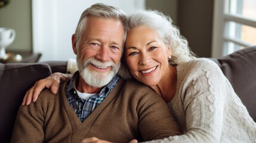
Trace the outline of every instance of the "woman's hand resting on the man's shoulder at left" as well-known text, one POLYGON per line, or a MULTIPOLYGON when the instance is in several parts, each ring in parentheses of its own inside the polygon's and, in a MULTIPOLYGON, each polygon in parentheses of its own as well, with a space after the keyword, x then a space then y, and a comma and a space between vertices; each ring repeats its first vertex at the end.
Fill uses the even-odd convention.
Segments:
POLYGON ((53 94, 57 94, 58 86, 67 79, 69 79, 67 74, 53 73, 45 79, 38 80, 35 85, 26 92, 22 105, 29 105, 32 100, 35 102, 38 99, 38 95, 44 88, 49 88, 53 94))

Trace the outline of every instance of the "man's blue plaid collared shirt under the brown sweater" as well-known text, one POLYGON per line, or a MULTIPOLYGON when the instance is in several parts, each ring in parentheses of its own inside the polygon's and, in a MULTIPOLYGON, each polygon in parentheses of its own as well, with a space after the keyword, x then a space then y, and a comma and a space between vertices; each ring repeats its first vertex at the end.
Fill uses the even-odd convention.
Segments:
POLYGON ((116 74, 115 77, 103 88, 100 93, 92 95, 86 101, 82 100, 75 88, 75 79, 79 77, 78 71, 73 74, 71 80, 69 80, 65 86, 65 92, 67 96, 67 101, 71 107, 75 110, 78 118, 84 122, 84 120, 92 113, 92 111, 109 95, 110 91, 115 88, 118 83, 119 76, 116 74))

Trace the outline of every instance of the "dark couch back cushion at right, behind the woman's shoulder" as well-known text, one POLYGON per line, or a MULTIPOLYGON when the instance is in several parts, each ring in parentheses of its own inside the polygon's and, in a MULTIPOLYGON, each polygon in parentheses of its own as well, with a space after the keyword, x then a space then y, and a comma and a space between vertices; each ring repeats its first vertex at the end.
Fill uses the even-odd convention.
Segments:
POLYGON ((256 121, 256 46, 245 48, 218 59, 218 65, 229 79, 252 119, 256 121))

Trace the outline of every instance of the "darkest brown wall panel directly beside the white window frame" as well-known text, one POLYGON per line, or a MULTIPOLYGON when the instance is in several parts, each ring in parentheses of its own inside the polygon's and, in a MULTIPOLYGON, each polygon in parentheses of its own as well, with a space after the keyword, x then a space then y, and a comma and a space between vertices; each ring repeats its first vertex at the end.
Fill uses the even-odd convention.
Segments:
POLYGON ((180 0, 177 10, 178 27, 192 51, 198 57, 211 57, 214 0, 180 0))

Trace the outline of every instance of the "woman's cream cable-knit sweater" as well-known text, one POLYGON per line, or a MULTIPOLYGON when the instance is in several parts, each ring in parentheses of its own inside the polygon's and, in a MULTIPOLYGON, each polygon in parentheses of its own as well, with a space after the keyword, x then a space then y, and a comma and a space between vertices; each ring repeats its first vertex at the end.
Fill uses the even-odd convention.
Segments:
POLYGON ((217 64, 206 58, 178 64, 177 92, 168 105, 184 135, 151 142, 256 142, 256 123, 217 64))

